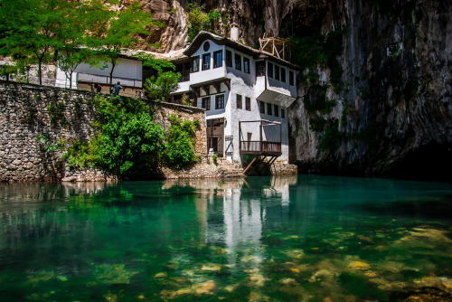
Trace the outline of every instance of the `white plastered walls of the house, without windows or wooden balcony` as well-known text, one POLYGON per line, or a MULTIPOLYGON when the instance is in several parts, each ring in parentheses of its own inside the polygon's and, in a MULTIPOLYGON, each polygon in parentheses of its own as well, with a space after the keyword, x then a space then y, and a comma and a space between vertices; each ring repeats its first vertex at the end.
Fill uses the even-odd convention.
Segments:
MULTIPOLYGON (((221 139, 217 144, 216 151, 230 160, 242 162, 241 136, 242 142, 259 141, 260 139, 267 142, 281 142, 282 154, 278 159, 287 161, 287 108, 297 98, 297 71, 293 67, 287 66, 290 64, 285 61, 271 56, 256 58, 256 54, 249 48, 234 47, 234 43, 226 43, 224 38, 221 38, 220 42, 215 39, 215 36, 211 39, 204 38, 201 42, 198 41, 196 46, 197 49, 186 53, 192 64, 190 80, 182 82, 175 94, 194 92, 197 107, 206 109, 208 139, 211 139, 210 136, 221 139), (221 64, 217 64, 221 66, 218 67, 214 65, 215 52, 221 52, 221 60, 217 60, 221 61, 221 64), (210 54, 210 66, 208 69, 202 70, 202 57, 206 54, 210 54), (199 58, 199 71, 196 71, 196 68, 193 71, 193 60, 196 60, 194 58, 199 58), (260 67, 263 72, 261 71, 259 76, 258 61, 258 64, 263 66, 260 67), (245 65, 247 65, 246 69, 245 65), (272 65, 270 67, 273 70, 272 77, 268 74, 268 65, 272 65), (277 71, 278 77, 276 76, 277 71), (285 72, 285 75, 282 75, 282 72, 285 72), (221 101, 218 104, 218 98, 224 98, 224 106, 221 106, 221 101), (241 106, 238 104, 240 99, 241 106), (260 106, 264 106, 264 109, 260 110, 260 106), (209 121, 212 120, 222 120, 224 128, 213 127, 210 131, 209 121), (265 126, 260 131, 259 122, 250 123, 250 121, 260 120, 266 121, 263 123, 264 125, 268 122, 280 123, 280 127, 279 125, 265 126), (222 132, 222 135, 219 132, 222 132)), ((254 52, 259 51, 254 50, 254 52)), ((212 147, 210 142, 208 145, 212 147)))

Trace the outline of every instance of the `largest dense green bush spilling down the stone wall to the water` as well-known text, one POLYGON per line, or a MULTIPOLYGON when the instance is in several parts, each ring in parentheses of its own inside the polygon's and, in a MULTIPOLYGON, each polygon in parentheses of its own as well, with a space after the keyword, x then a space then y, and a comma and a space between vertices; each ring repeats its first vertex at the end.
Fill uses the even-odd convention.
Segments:
POLYGON ((96 167, 115 175, 142 175, 158 165, 165 131, 146 103, 138 99, 96 96, 99 135, 74 143, 65 155, 73 168, 96 167))

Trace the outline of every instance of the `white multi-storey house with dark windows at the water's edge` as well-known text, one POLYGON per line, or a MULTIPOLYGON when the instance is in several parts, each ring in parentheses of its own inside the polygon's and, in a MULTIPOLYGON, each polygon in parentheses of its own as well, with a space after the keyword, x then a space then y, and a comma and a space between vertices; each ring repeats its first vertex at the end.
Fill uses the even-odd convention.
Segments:
POLYGON ((297 66, 207 32, 184 54, 174 99, 193 94, 206 109, 208 149, 240 163, 247 155, 287 161, 287 109, 297 99, 297 66))

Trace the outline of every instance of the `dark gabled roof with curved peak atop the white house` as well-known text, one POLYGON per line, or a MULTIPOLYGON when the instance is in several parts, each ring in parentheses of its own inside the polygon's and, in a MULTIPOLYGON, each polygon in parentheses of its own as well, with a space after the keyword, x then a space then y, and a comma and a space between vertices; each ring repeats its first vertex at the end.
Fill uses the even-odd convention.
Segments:
POLYGON ((206 40, 212 40, 213 42, 216 42, 219 45, 226 45, 226 46, 229 46, 240 52, 247 53, 247 54, 253 56, 254 59, 260 59, 260 58, 261 59, 269 59, 271 61, 276 61, 278 64, 285 65, 285 66, 295 69, 295 70, 299 70, 299 68, 296 64, 293 64, 293 63, 283 60, 283 59, 279 59, 278 57, 274 56, 273 54, 271 54, 269 52, 259 51, 255 48, 244 45, 240 42, 231 40, 226 37, 221 37, 214 33, 209 33, 209 32, 204 32, 204 31, 201 31, 200 33, 198 33, 196 35, 193 42, 184 51, 184 54, 187 56, 193 55, 193 53, 196 52, 201 47, 202 42, 204 42, 206 40))

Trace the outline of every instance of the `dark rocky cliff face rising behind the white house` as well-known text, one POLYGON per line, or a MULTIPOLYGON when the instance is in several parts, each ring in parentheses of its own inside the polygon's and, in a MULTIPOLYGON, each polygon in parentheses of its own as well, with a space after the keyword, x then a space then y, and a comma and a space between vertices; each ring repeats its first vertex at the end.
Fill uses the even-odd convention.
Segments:
MULTIPOLYGON (((183 46, 185 1, 142 1, 168 25, 154 42, 165 51, 183 46)), ((298 41, 300 99, 289 118, 291 158, 302 172, 450 179, 450 1, 199 3, 229 14, 250 45, 263 33, 298 41)))

